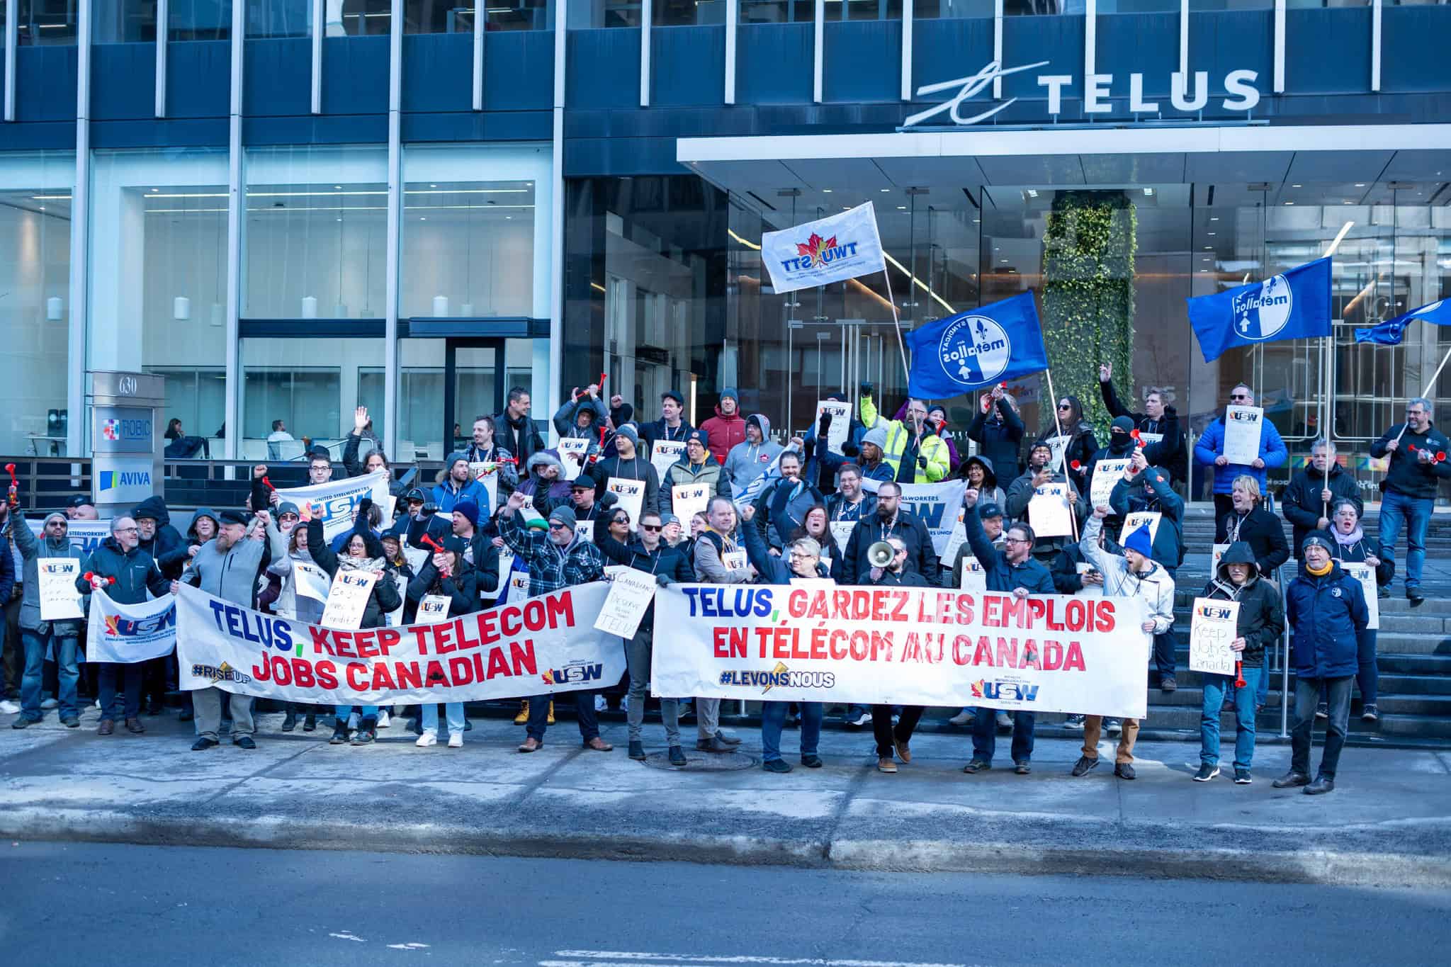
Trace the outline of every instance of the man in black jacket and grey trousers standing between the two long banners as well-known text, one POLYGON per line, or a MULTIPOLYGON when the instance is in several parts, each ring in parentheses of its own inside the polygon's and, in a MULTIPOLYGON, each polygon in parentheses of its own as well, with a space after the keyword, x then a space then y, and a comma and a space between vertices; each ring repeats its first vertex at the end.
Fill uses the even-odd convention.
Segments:
MULTIPOLYGON (((611 500, 614 494, 605 494, 611 500)), ((611 500, 612 502, 612 500, 611 500)), ((660 587, 675 584, 694 584, 695 571, 685 557, 683 547, 673 548, 662 539, 665 526, 660 515, 646 510, 640 515, 640 536, 628 544, 615 538, 609 522, 617 519, 628 522, 624 510, 612 513, 595 522, 595 547, 614 564, 624 564, 646 574, 654 574, 660 587)), ((625 642, 625 661, 630 667, 630 694, 625 700, 625 721, 630 725, 630 758, 644 761, 644 699, 650 693, 650 660, 654 652, 654 602, 640 619, 640 628, 634 638, 625 642)), ((681 702, 678 699, 660 699, 660 718, 665 721, 665 742, 669 750, 670 765, 685 765, 685 751, 681 747, 681 702)))

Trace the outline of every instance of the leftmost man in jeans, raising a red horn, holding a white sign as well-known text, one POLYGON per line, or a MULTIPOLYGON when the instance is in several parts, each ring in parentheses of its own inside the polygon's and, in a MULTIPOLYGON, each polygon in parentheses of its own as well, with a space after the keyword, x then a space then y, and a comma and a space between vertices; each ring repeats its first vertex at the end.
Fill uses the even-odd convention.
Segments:
MULTIPOLYGON (((25 593, 20 597, 20 638, 25 641, 25 676, 20 678, 20 715, 12 722, 12 728, 23 729, 39 722, 45 713, 41 710, 41 671, 45 657, 54 648, 55 664, 59 670, 59 703, 61 725, 74 729, 80 725, 75 707, 75 681, 80 677, 75 664, 77 641, 80 638, 80 619, 75 621, 41 621, 41 558, 71 558, 81 561, 78 548, 71 547, 65 536, 67 520, 64 513, 49 513, 45 516, 45 529, 39 541, 30 534, 30 525, 20 513, 12 513, 0 505, 0 520, 10 528, 10 539, 20 549, 25 561, 25 593)), ((77 571, 84 570, 84 564, 77 571)))

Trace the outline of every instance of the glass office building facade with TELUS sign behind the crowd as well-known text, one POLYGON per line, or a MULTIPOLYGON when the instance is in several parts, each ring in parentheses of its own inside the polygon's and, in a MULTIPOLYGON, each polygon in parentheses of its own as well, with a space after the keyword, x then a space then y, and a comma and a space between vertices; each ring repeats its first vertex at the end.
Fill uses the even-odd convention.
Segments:
MULTIPOLYGON (((827 393, 900 397, 894 310, 1024 290, 1051 358, 1132 326, 1120 391, 1193 429, 1245 380, 1291 449, 1362 454, 1441 396, 1438 329, 1354 339, 1451 296, 1441 4, 0 6, 4 452, 84 452, 87 370, 165 374, 218 457, 367 406, 437 460, 511 386, 543 419, 601 371, 643 418, 734 387, 804 429, 827 393), (868 200, 885 277, 772 290, 762 232, 868 200), (1185 297, 1325 252, 1332 345, 1201 360, 1185 297), (1074 329, 1045 296, 1085 278, 1113 297, 1074 329)), ((1017 390, 1042 422, 1046 386, 1017 390)))

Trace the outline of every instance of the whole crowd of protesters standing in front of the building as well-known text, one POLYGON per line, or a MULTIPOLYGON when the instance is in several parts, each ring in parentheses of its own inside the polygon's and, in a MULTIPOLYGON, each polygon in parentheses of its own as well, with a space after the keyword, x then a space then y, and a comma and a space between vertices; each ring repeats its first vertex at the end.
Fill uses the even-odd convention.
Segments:
MULTIPOLYGON (((609 565, 646 571, 662 586, 815 578, 844 586, 958 589, 975 578, 988 592, 1020 597, 1090 589, 1142 599, 1148 615, 1142 632, 1154 639, 1149 683, 1174 692, 1172 626, 1187 549, 1184 496, 1191 448, 1164 391, 1151 389, 1143 394, 1143 412, 1133 412, 1116 391, 1110 367, 1100 368, 1098 380, 1111 418, 1103 445, 1075 396, 1053 400, 1042 432, 1029 435, 1019 403, 995 387, 978 397, 971 422, 958 435, 949 428, 945 407, 908 399, 888 418, 874 387, 863 384, 844 433, 840 426, 833 433, 833 416, 826 410, 795 436, 773 433, 763 413, 743 413, 740 394, 731 389, 721 393, 714 415, 695 428, 685 419, 683 397, 673 390, 660 396, 657 419, 638 420, 622 397, 607 400, 601 386, 589 386, 572 390, 553 413, 562 442, 548 447, 531 418, 530 394, 514 389, 501 413, 472 423, 467 447, 447 455, 431 486, 402 483, 367 410, 358 407, 344 441, 340 477, 389 471, 396 520, 380 529, 380 507, 363 499, 353 528, 331 542, 321 520, 305 520, 295 503, 270 489, 266 464, 252 471, 245 509, 202 507, 183 535, 171 525, 165 503, 151 497, 113 518, 110 535, 90 555, 67 538, 71 520, 96 519, 84 497, 71 500, 64 512, 45 515, 39 535, 32 534, 12 499, 10 507, 0 507, 10 549, 0 554, 0 600, 9 602, 7 693, 0 710, 16 715, 13 728, 39 722, 48 709, 57 709, 65 726, 78 728, 84 622, 42 621, 39 610, 38 561, 54 557, 83 558, 86 576, 77 578, 77 590, 106 587, 120 603, 145 602, 189 583, 247 607, 311 622, 319 619, 322 605, 299 593, 295 563, 315 565, 328 577, 367 571, 379 580, 363 628, 412 622, 425 599, 444 600, 450 615, 490 607, 514 594, 524 583, 512 578, 524 576, 530 596, 588 584, 605 577, 609 565), (829 444, 833 438, 840 442, 829 444), (682 445, 663 473, 651 460, 657 442, 682 445), (1094 470, 1104 460, 1127 462, 1107 500, 1093 506, 1094 470), (485 486, 486 476, 492 476, 492 486, 485 486), (907 510, 903 487, 955 478, 965 484, 963 534, 961 549, 943 560, 923 520, 907 510), (607 486, 611 480, 643 484, 636 519, 607 486), (682 484, 704 486, 708 494, 704 510, 689 519, 681 519, 685 510, 675 503, 675 487, 682 484), (1069 535, 1039 536, 1032 526, 1032 505, 1052 484, 1065 487, 1072 529, 1069 535), (1123 520, 1143 510, 1161 515, 1156 531, 1142 526, 1120 534, 1123 520), (891 549, 889 560, 874 552, 882 544, 891 549), (425 547, 428 554, 419 557, 425 547), (501 573, 501 560, 512 561, 512 570, 501 573)), ((1228 403, 1251 406, 1251 387, 1233 387, 1228 403)), ((1293 539, 1286 541, 1281 518, 1267 506, 1267 471, 1288 458, 1283 439, 1265 420, 1258 457, 1233 464, 1225 455, 1225 428, 1226 416, 1220 415, 1193 445, 1194 462, 1212 478, 1216 510, 1216 563, 1209 583, 1193 590, 1238 602, 1232 648, 1239 674, 1200 676, 1201 765, 1194 780, 1220 774, 1220 715, 1229 705, 1236 721, 1233 781, 1252 781, 1255 719, 1265 705, 1270 658, 1288 628, 1296 671, 1293 761, 1274 786, 1329 792, 1352 689, 1361 693, 1361 718, 1378 718, 1376 632, 1367 626, 1361 583, 1342 563, 1373 567, 1378 593, 1389 594, 1396 545, 1405 531, 1405 593, 1412 605, 1423 600, 1431 507, 1439 481, 1451 477, 1451 464, 1435 454, 1451 445, 1431 426, 1431 403, 1413 399, 1406 420, 1371 447, 1371 457, 1387 460, 1380 539, 1371 544, 1360 523, 1364 505, 1354 478, 1338 462, 1331 442, 1315 442, 1309 465, 1291 476, 1280 499, 1278 510, 1293 528, 1293 539), (1288 574, 1283 570, 1287 564, 1288 574), (1325 723, 1326 739, 1312 779, 1316 721, 1325 723)), ((180 428, 170 429, 180 433, 180 428)), ((286 435, 280 422, 273 429, 274 436, 286 435)), ((325 449, 309 451, 306 461, 309 483, 334 478, 325 449)), ((567 702, 585 748, 608 752, 612 747, 601 738, 598 715, 614 703, 625 710, 628 755, 644 758, 644 710, 657 635, 667 647, 669 634, 654 625, 651 606, 636 635, 624 642, 628 673, 618 686, 528 696, 515 718, 525 729, 518 751, 543 747, 556 705, 567 702)), ((118 722, 131 732, 144 732, 142 712, 163 713, 163 700, 177 684, 174 657, 96 665, 87 665, 94 681, 86 690, 100 709, 100 735, 113 734, 118 722)), ((218 687, 183 696, 181 719, 194 721, 193 750, 212 748, 228 736, 237 747, 255 748, 250 697, 218 687)), ((820 767, 823 706, 762 705, 763 767, 791 771, 781 750, 788 722, 800 723, 801 764, 820 767)), ((720 728, 720 699, 665 697, 659 706, 667 761, 673 765, 688 761, 681 728, 689 716, 696 722, 696 751, 728 754, 740 744, 720 728)), ((377 706, 289 706, 281 729, 293 731, 300 719, 302 729, 311 732, 319 716, 331 715, 331 742, 366 745, 399 712, 377 706)), ((898 763, 911 761, 910 741, 923 712, 917 706, 853 705, 846 707, 843 722, 871 722, 878 768, 897 773, 898 763)), ((438 742, 437 706, 425 705, 409 718, 419 747, 438 742)), ((969 706, 950 722, 972 729, 965 773, 992 768, 1000 728, 1011 729, 1014 771, 1032 771, 1032 712, 969 706)), ((1084 734, 1072 776, 1085 776, 1098 765, 1098 741, 1107 732, 1117 736, 1114 774, 1135 779, 1136 721, 1071 715, 1066 725, 1084 734)), ((461 745, 469 728, 461 705, 444 707, 448 747, 461 745)))

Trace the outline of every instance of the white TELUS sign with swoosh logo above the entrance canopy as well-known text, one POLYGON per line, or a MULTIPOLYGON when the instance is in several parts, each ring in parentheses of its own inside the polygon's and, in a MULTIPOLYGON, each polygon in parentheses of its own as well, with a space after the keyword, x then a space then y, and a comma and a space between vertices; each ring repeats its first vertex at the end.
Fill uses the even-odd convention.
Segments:
MULTIPOLYGON (((972 116, 963 116, 959 110, 962 103, 984 88, 988 87, 998 77, 1006 77, 1008 74, 1017 74, 1020 71, 1029 71, 1035 67, 1045 67, 1049 61, 1039 61, 1036 64, 1026 64, 1022 67, 1007 67, 1004 68, 1000 61, 992 61, 981 71, 972 77, 959 77, 952 81, 939 81, 936 84, 924 84, 917 88, 917 96, 923 97, 926 94, 937 94, 945 90, 959 88, 958 93, 949 100, 942 101, 936 107, 929 107, 924 112, 918 112, 907 117, 903 122, 903 128, 911 128, 913 125, 921 123, 929 117, 936 117, 937 115, 946 112, 955 125, 975 125, 979 120, 987 120, 992 115, 1004 110, 1008 104, 1016 101, 1016 97, 1010 97, 1006 101, 992 104, 987 110, 978 112, 972 116)), ((1120 75, 1122 77, 1122 75, 1120 75)), ((1255 80, 1259 77, 1257 71, 1229 71, 1225 74, 1225 81, 1222 90, 1226 97, 1220 101, 1220 109, 1230 112, 1248 112, 1254 110, 1259 103, 1259 91, 1255 88, 1255 80)), ((1109 100, 1114 93, 1114 75, 1113 74, 1087 74, 1082 78, 1082 100, 1085 115, 1109 115, 1113 112, 1113 103, 1109 100)), ((1072 84, 1077 78, 1072 74, 1039 74, 1037 86, 1048 90, 1048 116, 1053 120, 1064 109, 1064 88, 1072 84)), ((1143 74, 1135 72, 1129 74, 1129 113, 1130 115, 1159 115, 1164 112, 1164 106, 1159 101, 1151 101, 1143 99, 1143 74)), ((1119 96, 1123 96, 1123 84, 1119 84, 1119 96)), ((1196 112, 1204 110, 1209 106, 1209 71, 1194 71, 1193 84, 1190 78, 1183 72, 1170 74, 1170 107, 1185 115, 1193 115, 1196 112)))

